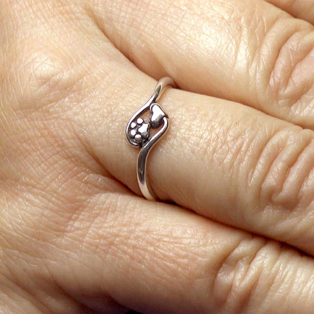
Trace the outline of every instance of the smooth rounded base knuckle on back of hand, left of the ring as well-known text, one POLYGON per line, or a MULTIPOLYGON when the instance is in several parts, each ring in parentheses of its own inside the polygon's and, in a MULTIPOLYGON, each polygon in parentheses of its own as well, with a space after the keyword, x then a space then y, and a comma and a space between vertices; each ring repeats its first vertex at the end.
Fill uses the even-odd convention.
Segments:
POLYGON ((13 109, 40 108, 42 104, 54 103, 64 97, 75 85, 74 64, 65 51, 47 47, 35 38, 19 44, 13 53, 13 62, 7 67, 6 86, 10 87, 13 109))

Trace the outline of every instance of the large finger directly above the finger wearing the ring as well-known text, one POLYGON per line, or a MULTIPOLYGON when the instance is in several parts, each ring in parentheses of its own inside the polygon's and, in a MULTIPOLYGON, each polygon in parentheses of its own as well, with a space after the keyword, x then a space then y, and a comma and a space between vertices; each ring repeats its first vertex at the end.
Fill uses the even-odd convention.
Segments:
POLYGON ((313 26, 263 1, 86 1, 142 71, 314 129, 313 26))

